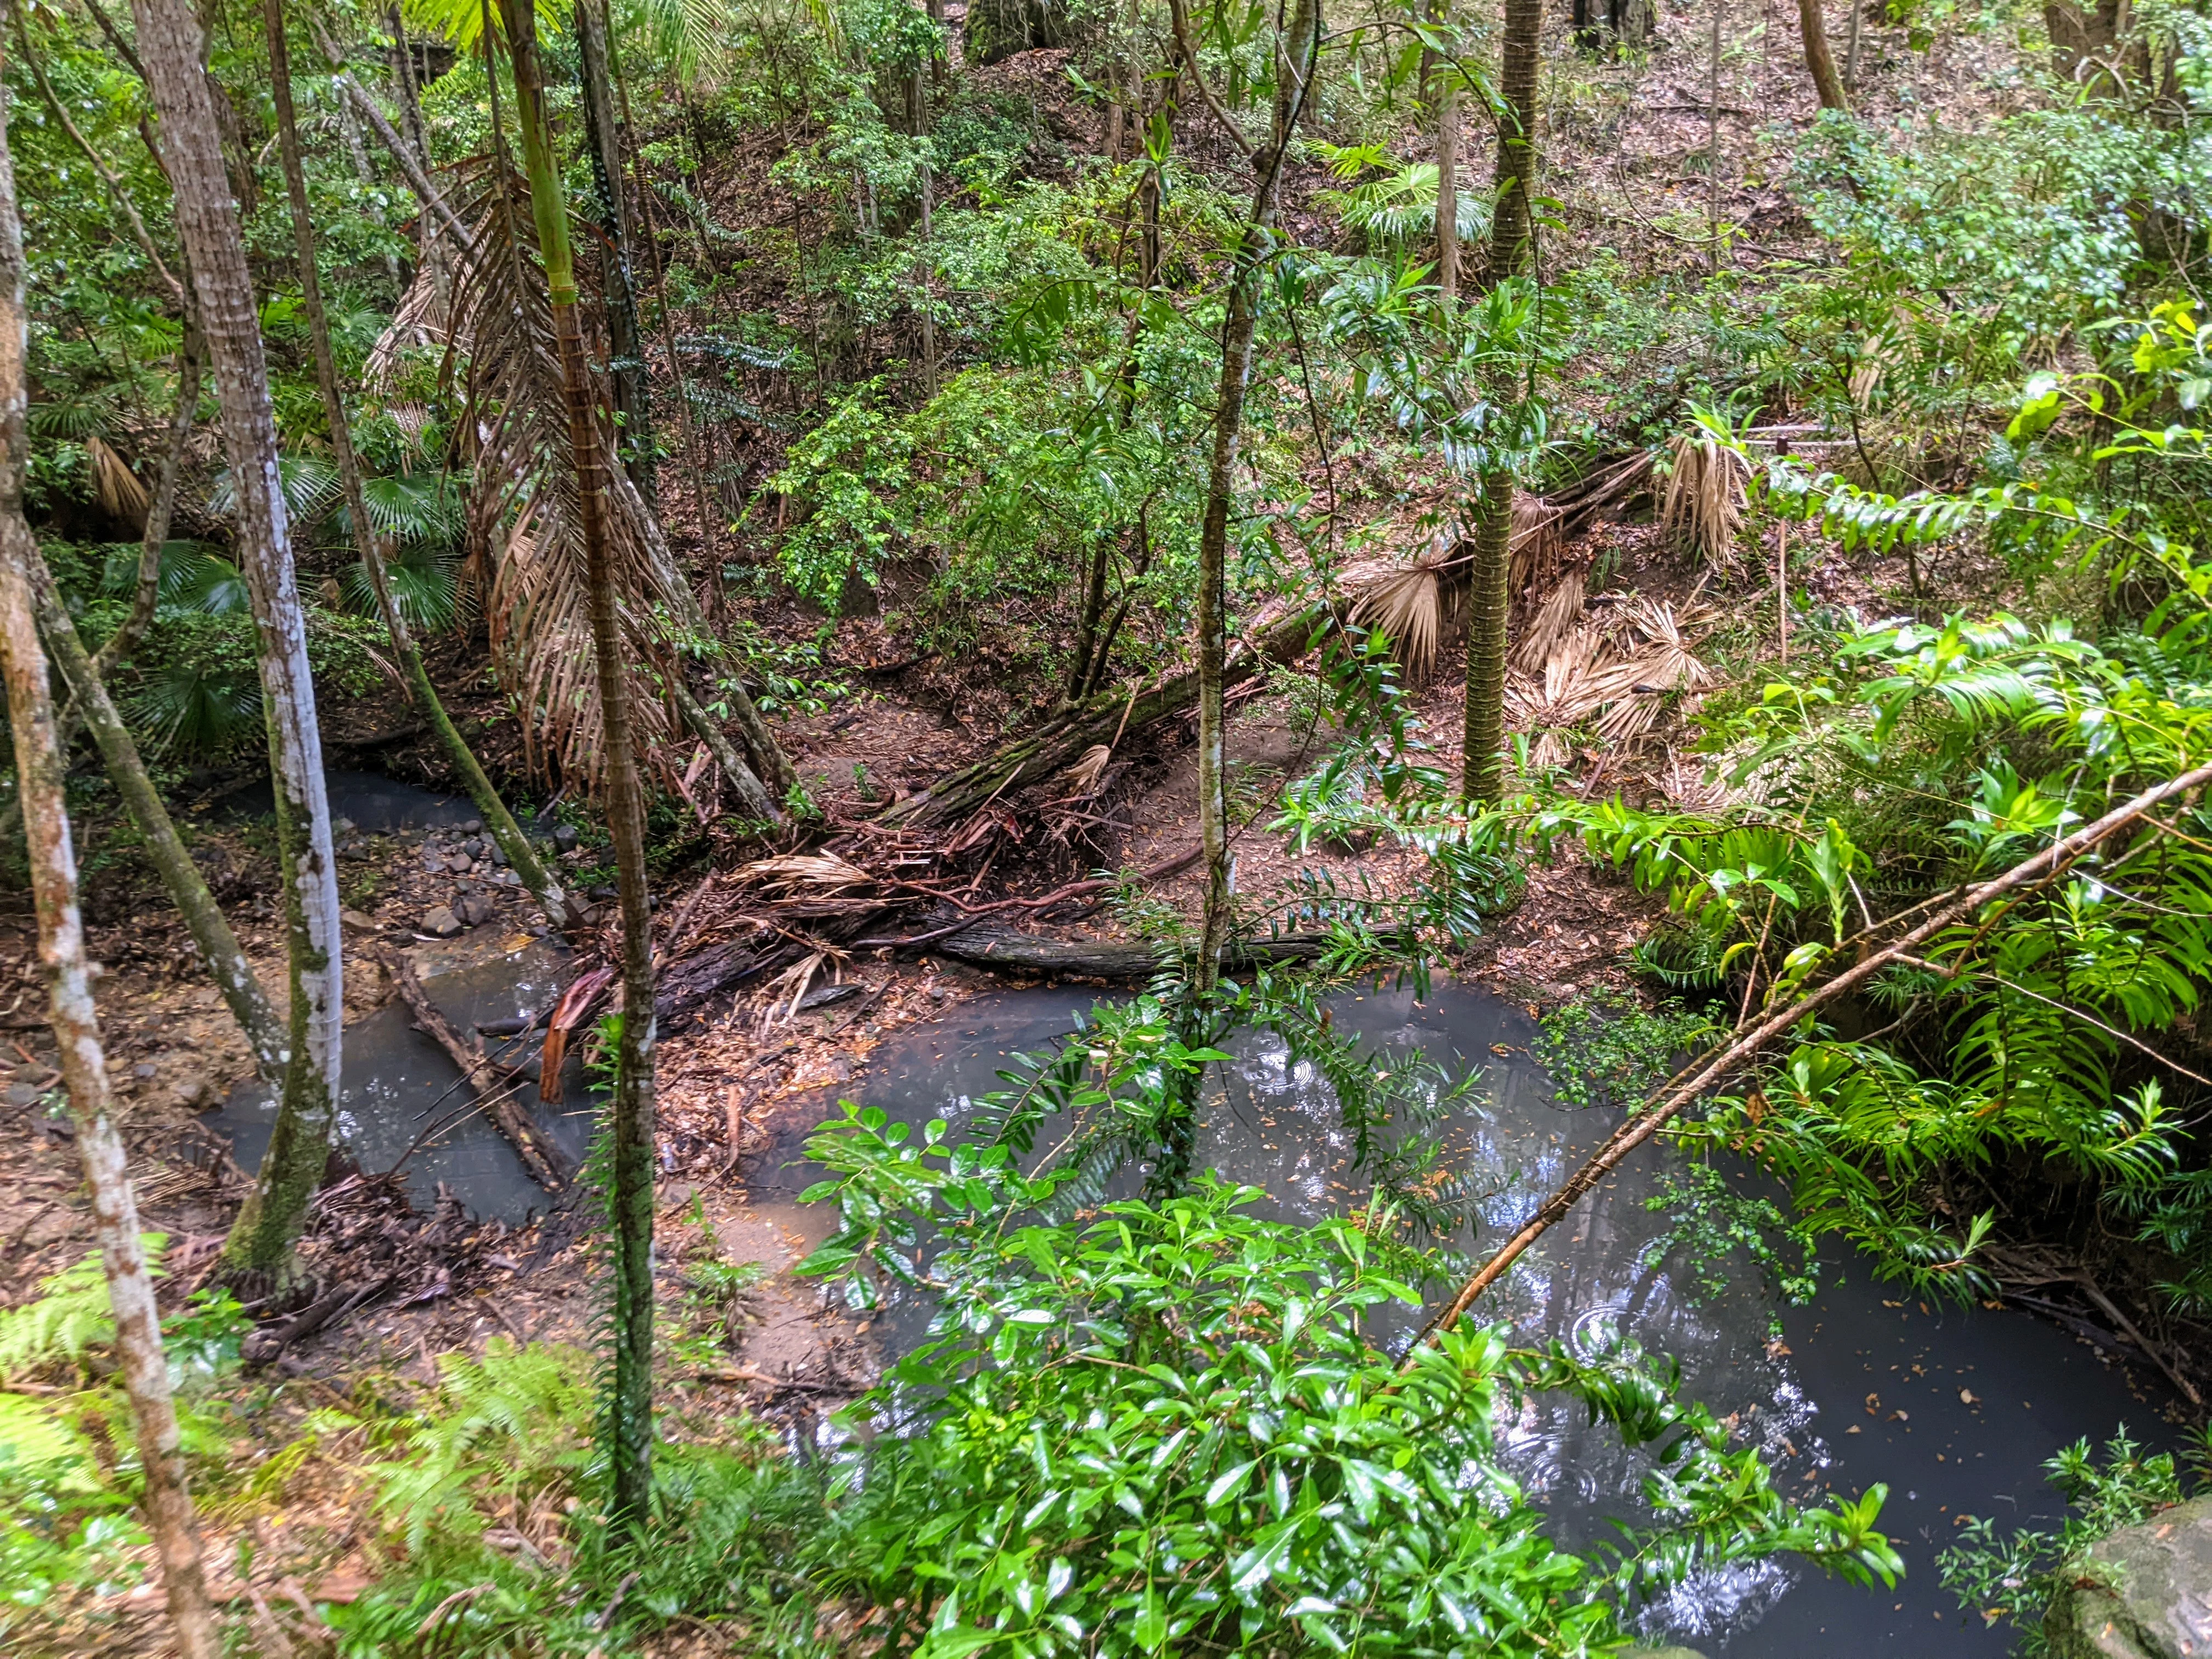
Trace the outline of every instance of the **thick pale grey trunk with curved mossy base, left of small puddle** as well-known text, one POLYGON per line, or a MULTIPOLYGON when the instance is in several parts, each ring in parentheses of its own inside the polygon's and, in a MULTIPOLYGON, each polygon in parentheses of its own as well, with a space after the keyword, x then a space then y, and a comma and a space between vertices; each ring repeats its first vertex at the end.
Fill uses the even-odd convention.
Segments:
POLYGON ((237 480, 237 549, 261 635, 261 699, 270 723, 270 783, 290 947, 290 1053, 261 1175, 232 1223, 223 1259, 243 1283, 283 1285, 292 1245, 323 1177, 338 1097, 345 1018, 338 874, 323 787, 323 737, 307 672, 307 626, 292 571, 292 533, 276 476, 276 420, 246 239, 204 71, 206 42, 188 0, 133 0, 137 46, 161 117, 161 153, 177 204, 199 327, 208 338, 237 480))

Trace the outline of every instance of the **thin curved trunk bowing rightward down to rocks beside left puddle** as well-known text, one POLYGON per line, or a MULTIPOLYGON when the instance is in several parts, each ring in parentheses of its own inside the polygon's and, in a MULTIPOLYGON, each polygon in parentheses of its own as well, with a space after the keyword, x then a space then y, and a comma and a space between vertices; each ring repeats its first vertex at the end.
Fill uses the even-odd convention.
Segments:
POLYGON ((431 686, 429 670, 422 666, 422 650, 414 641, 414 630, 407 626, 407 617, 400 615, 398 599, 392 593, 392 571, 380 546, 383 538, 378 538, 376 526, 369 522, 369 502, 361 484, 361 456, 354 453, 352 425, 345 418, 345 398, 338 392, 338 363, 330 349, 330 312, 323 305, 314 219, 307 212, 307 170, 299 148, 299 122, 292 113, 292 55, 283 38, 283 0, 263 0, 261 15, 268 27, 276 148, 283 157, 285 190, 292 199, 292 246, 299 257, 299 288, 307 312, 307 341, 314 349, 314 378, 323 392, 323 420, 330 425, 330 453, 338 465, 338 489, 345 495, 345 515, 352 520, 354 551, 361 555, 361 568, 369 575, 376 608, 383 611, 385 630, 392 635, 392 650, 407 675, 407 688, 414 695, 416 708, 422 710, 431 730, 438 732, 447 759, 460 772, 469 799, 484 816, 484 827, 500 843, 500 852, 522 885, 529 887, 531 898, 538 900, 538 909, 544 911, 546 922, 555 929, 566 929, 575 920, 568 909, 568 896, 562 894, 560 880, 538 860, 531 838, 522 834, 515 814, 507 810, 500 792, 478 763, 476 752, 447 717, 445 703, 438 699, 438 688, 431 686))

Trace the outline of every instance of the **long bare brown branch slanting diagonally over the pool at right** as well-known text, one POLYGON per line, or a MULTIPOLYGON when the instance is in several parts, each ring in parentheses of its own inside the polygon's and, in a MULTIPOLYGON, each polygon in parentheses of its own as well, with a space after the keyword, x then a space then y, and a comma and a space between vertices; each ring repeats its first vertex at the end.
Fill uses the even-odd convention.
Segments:
MULTIPOLYGON (((1938 905, 1909 933, 1905 933, 1891 945, 1863 953, 1858 962, 1838 973, 1834 980, 1827 980, 1818 989, 1807 991, 1790 1006, 1765 1015, 1750 1031, 1743 1031, 1739 1026, 1734 1042, 1730 1042, 1725 1048, 1708 1051, 1705 1060, 1686 1066, 1681 1073, 1674 1075, 1672 1082, 1668 1082, 1657 1095, 1652 1095, 1648 1110, 1630 1117, 1626 1124, 1613 1130, 1613 1135, 1606 1137, 1606 1144, 1599 1146, 1584 1161, 1584 1166, 1568 1177, 1566 1186, 1562 1186, 1557 1192, 1544 1199, 1544 1203, 1537 1208, 1533 1217, 1528 1217, 1522 1230, 1515 1232, 1511 1239, 1506 1239, 1506 1243, 1489 1261, 1482 1263, 1475 1276, 1460 1287, 1460 1294, 1453 1296, 1451 1303, 1422 1327, 1422 1340, 1433 1343, 1438 1334, 1458 1325, 1460 1316, 1475 1303, 1475 1298, 1493 1283, 1498 1283, 1498 1279, 1504 1276, 1506 1267, 1520 1261, 1522 1252, 1526 1252, 1528 1245, 1533 1245, 1537 1239, 1551 1232, 1559 1221, 1564 1221, 1568 1212, 1577 1203, 1582 1203, 1582 1199, 1621 1164, 1624 1157, 1628 1157, 1635 1148, 1644 1146, 1644 1141, 1657 1135, 1668 1121, 1674 1119, 1677 1113, 1681 1113, 1683 1106, 1703 1097, 1703 1093, 1712 1088, 1712 1084, 1730 1075, 1752 1055, 1761 1053, 1770 1042, 1774 1042, 1783 1033, 1794 1031, 1798 1022, 1805 1020, 1805 1015, 1816 1013, 1818 1009, 1827 1006, 1829 1002, 1836 1002, 1843 995, 1849 995, 1867 980, 1871 980, 1876 973, 1916 953, 1922 945, 1940 936, 1947 927, 1955 927, 1958 922, 1980 911, 1984 905, 2006 898, 2008 894, 2015 894, 2024 887, 2044 887, 2057 880, 2084 854, 2093 852, 2110 836, 2119 834, 2121 830, 2143 818, 2161 801, 2188 794, 2190 790, 2201 790, 2205 783, 2212 783, 2212 765, 2199 765, 2192 772, 2183 772, 2177 779, 2168 779, 2157 787, 2143 790, 2132 801, 2115 807, 2112 812, 2106 812, 2101 818, 2097 818, 2090 825, 2084 825, 2081 830, 2075 830, 2070 836, 2051 843, 2033 858, 2026 858, 2006 869, 2002 876, 1984 880, 1978 887, 1969 887, 1962 894, 1955 894, 1949 902, 1938 905)), ((1407 1363, 1411 1365, 1411 1358, 1407 1363)))

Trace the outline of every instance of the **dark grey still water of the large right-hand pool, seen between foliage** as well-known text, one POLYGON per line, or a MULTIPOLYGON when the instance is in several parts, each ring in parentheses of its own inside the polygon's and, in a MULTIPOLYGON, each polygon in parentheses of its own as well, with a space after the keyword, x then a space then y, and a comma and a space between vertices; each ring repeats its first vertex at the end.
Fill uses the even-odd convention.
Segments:
MULTIPOLYGON (((1091 1000, 1077 989, 978 998, 887 1042, 849 1093, 898 1119, 945 1117, 958 1130, 978 1095, 1004 1086, 995 1073, 1015 1053, 1048 1048, 1091 1000)), ((1427 1002, 1385 989, 1347 993, 1334 1006, 1340 1031, 1380 1051, 1420 1048, 1453 1075, 1482 1068, 1444 1126, 1447 1168, 1480 1194, 1478 1245, 1511 1232, 1617 1121, 1553 1097, 1528 1057, 1535 1022, 1493 995, 1438 982, 1427 1002)), ((1239 1044, 1230 1071, 1225 1095, 1206 1113, 1206 1166, 1265 1188, 1285 1219, 1365 1201, 1334 1102, 1310 1068, 1256 1035, 1239 1044)), ((790 1119, 779 1148, 752 1166, 757 1206, 787 1203, 816 1179, 796 1164, 812 1121, 790 1119)), ((2163 1440, 2163 1396, 2051 1325, 1920 1303, 1874 1281, 1856 1256, 1823 1263, 1809 1307, 1785 1307, 1750 1261, 1692 1274, 1666 1248, 1666 1217, 1644 1203, 1672 1164, 1668 1148, 1641 1148, 1522 1259, 1482 1303, 1484 1316, 1511 1321, 1522 1340, 1557 1338, 1586 1356, 1624 1343, 1672 1354, 1686 1394, 1736 1413, 1790 1493, 1856 1495, 1887 1484, 1882 1526, 1907 1577, 1880 1593, 1787 1562, 1714 1573, 1650 1608, 1648 1635, 1728 1659, 2008 1652, 2011 1632, 1962 1617, 1938 1582, 1933 1557, 1953 1517, 1995 1515, 2004 1528, 2055 1520, 2062 1506, 2044 1484, 2044 1458, 2084 1436, 2104 1440, 2121 1422, 2137 1438, 2163 1440), (1717 1287, 1697 1283, 1714 1276, 1717 1287)), ((922 1310, 894 1314, 891 1340, 911 1340, 922 1318, 922 1310)), ((1584 1544, 1606 1535, 1608 1517, 1637 1517, 1641 1455, 1610 1429, 1593 1429, 1579 1407, 1535 1402, 1502 1425, 1502 1444, 1557 1517, 1562 1542, 1584 1544)))

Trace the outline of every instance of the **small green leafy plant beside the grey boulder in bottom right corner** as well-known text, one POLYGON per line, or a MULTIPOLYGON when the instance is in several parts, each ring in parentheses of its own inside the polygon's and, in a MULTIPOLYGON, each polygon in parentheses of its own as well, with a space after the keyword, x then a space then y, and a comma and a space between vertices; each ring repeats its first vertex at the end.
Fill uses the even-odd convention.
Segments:
MULTIPOLYGON (((2183 1455, 2197 1471, 2197 1495, 2212 1489, 2212 1436, 2199 1429, 2199 1440, 2183 1455)), ((2062 1588, 2081 1551, 2121 1526, 2135 1526, 2183 1500, 2181 1471, 2174 1455, 2146 1455, 2121 1429, 2104 1449, 2104 1462, 2088 1440, 2075 1440, 2044 1462, 2048 1480, 2066 1493, 2066 1520, 2053 1533, 2022 1526, 2008 1540, 1997 1537, 1997 1522, 1966 1520, 1958 1544, 1936 1557, 1944 1588, 1969 1613, 1984 1619, 2011 1619, 2020 1630, 2017 1652, 2024 1657, 2048 1650, 2044 1610, 2062 1588)))

